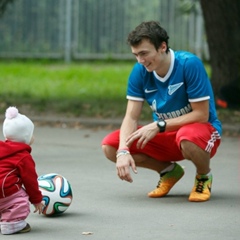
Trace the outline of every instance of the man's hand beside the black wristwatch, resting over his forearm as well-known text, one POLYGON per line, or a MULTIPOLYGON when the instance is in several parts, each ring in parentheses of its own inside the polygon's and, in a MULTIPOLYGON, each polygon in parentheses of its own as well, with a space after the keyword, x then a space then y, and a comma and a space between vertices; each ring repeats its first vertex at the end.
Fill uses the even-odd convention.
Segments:
POLYGON ((131 144, 138 139, 137 148, 142 149, 145 147, 148 141, 150 141, 152 138, 154 138, 157 135, 158 132, 159 132, 159 129, 157 127, 156 122, 150 123, 146 126, 139 128, 137 131, 132 133, 126 139, 126 145, 131 146, 131 144))

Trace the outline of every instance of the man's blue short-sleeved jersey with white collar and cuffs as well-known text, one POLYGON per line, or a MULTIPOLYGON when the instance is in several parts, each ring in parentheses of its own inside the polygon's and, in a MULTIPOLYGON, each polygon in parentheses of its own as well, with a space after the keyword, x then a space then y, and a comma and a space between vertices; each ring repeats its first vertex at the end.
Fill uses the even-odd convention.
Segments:
POLYGON ((161 78, 156 72, 148 72, 139 63, 129 76, 127 99, 146 100, 153 111, 153 120, 175 118, 192 111, 191 102, 209 100, 209 119, 222 134, 217 118, 210 80, 202 61, 185 51, 170 49, 171 64, 168 73, 161 78))

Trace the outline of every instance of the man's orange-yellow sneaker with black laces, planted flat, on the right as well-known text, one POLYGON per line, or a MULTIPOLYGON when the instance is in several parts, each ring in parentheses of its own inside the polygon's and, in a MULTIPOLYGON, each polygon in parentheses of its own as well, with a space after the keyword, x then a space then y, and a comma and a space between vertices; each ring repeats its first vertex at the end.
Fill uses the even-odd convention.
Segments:
POLYGON ((212 175, 197 175, 195 178, 194 187, 188 200, 190 202, 205 202, 211 196, 212 175))

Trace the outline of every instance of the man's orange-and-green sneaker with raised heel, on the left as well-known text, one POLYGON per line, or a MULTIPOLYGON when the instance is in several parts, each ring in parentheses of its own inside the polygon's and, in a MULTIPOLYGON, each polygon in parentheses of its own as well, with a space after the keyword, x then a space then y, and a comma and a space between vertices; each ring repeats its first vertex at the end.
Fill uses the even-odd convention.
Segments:
POLYGON ((183 175, 183 168, 175 163, 172 171, 160 174, 160 180, 157 188, 148 193, 148 196, 151 198, 159 198, 167 195, 171 188, 182 178, 183 175))

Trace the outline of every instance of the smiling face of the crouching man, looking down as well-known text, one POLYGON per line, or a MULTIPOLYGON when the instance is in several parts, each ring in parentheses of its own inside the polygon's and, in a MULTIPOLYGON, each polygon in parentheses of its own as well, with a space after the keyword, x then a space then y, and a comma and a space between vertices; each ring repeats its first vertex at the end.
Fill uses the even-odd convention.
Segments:
POLYGON ((137 46, 131 46, 132 53, 137 61, 142 64, 148 72, 152 72, 161 65, 161 47, 158 51, 148 39, 142 40, 137 46))

